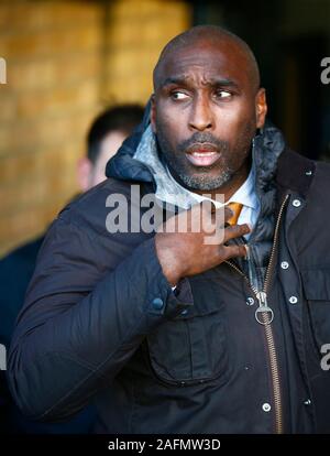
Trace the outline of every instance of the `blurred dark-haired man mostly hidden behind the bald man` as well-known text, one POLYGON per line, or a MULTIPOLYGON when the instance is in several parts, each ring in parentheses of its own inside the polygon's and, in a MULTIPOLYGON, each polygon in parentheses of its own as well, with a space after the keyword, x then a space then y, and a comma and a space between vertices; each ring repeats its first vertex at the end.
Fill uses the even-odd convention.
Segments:
MULTIPOLYGON (((81 192, 105 181, 107 161, 116 154, 142 118, 143 108, 135 104, 107 108, 97 116, 87 133, 86 156, 81 158, 77 165, 77 178, 81 192)), ((9 349, 14 322, 23 305, 43 240, 44 235, 21 246, 0 261, 0 344, 7 349, 9 349)), ((4 390, 4 382, 0 382, 0 389, 4 390)), ((8 402, 9 395, 4 394, 4 391, 0 393, 1 397, 7 397, 8 402)), ((3 415, 4 424, 10 432, 87 432, 91 423, 91 417, 85 413, 82 417, 78 416, 76 421, 64 425, 42 426, 21 419, 12 406, 10 413, 7 411, 3 415)), ((89 415, 91 416, 91 413, 89 415)), ((0 430, 4 424, 0 424, 0 430)))

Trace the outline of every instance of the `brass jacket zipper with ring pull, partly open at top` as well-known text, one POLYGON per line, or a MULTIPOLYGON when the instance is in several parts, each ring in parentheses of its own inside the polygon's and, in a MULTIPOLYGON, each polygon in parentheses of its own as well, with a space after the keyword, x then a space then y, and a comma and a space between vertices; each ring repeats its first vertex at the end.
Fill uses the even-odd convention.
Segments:
POLYGON ((284 211, 284 208, 286 206, 288 198, 289 198, 289 195, 286 195, 279 208, 279 213, 278 213, 278 217, 277 217, 276 226, 275 226, 274 241, 272 246, 271 258, 270 258, 270 262, 268 262, 267 270, 266 270, 263 290, 262 291, 256 290, 256 287, 251 284, 249 278, 244 274, 244 272, 239 267, 237 267, 231 261, 226 261, 226 263, 228 263, 231 268, 233 268, 240 275, 242 275, 245 279, 249 287, 253 291, 258 302, 258 307, 255 311, 255 319, 261 325, 263 325, 265 328, 265 336, 267 340, 267 349, 268 349, 268 356, 270 356, 270 367, 271 367, 271 373, 272 373, 272 383, 273 383, 273 395, 274 395, 274 406, 275 406, 275 433, 276 434, 283 433, 282 394, 280 394, 278 361, 277 361, 277 355, 276 355, 276 348, 275 348, 275 341, 274 341, 274 334, 273 334, 273 329, 271 325, 274 318, 274 312, 271 307, 268 307, 267 292, 268 292, 268 286, 270 286, 271 273, 273 272, 273 269, 274 269, 275 252, 276 252, 277 243, 278 243, 278 231, 279 231, 280 220, 282 220, 283 211, 284 211))

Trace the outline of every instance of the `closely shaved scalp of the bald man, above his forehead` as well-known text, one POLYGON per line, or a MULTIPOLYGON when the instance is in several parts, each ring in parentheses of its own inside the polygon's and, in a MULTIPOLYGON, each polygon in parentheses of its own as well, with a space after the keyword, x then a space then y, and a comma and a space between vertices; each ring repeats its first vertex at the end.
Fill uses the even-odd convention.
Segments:
POLYGON ((185 48, 200 47, 204 45, 229 48, 230 52, 240 57, 242 69, 248 73, 253 91, 260 88, 260 72, 253 52, 248 44, 238 35, 216 25, 198 25, 175 36, 161 53, 160 59, 154 68, 154 89, 157 90, 163 84, 164 66, 176 53, 185 48))

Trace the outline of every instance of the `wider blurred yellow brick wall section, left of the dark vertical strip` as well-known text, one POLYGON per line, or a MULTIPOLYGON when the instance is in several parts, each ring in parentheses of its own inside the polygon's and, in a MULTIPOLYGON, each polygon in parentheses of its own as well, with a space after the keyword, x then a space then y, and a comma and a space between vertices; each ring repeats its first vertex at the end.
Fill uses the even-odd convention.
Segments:
POLYGON ((98 4, 0 6, 0 251, 42 231, 76 189, 75 161, 99 100, 98 4))

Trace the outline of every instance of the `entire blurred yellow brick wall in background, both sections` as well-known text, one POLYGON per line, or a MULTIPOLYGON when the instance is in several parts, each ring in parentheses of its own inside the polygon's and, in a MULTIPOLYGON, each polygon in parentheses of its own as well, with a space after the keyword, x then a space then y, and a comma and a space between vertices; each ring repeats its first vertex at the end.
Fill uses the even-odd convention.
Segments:
POLYGON ((184 1, 1 1, 0 254, 77 192, 94 116, 106 104, 145 102, 161 48, 189 22, 184 1))

